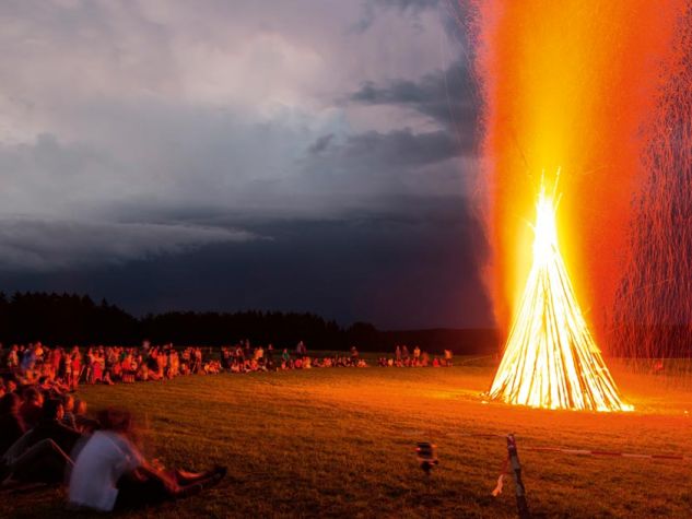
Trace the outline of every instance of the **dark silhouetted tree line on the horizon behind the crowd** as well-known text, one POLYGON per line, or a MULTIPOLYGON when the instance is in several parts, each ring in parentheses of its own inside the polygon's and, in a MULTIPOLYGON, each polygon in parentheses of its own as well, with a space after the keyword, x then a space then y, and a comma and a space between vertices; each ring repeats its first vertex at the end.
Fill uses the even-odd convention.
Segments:
POLYGON ((50 345, 154 344, 219 346, 248 339, 253 344, 312 350, 390 350, 395 343, 420 344, 430 351, 449 347, 457 353, 488 350, 490 330, 420 330, 383 332, 367 322, 342 327, 309 312, 166 311, 134 317, 87 295, 45 292, 0 293, 0 341, 7 345, 42 341, 50 345))

